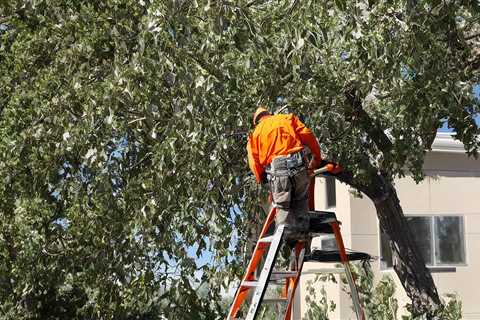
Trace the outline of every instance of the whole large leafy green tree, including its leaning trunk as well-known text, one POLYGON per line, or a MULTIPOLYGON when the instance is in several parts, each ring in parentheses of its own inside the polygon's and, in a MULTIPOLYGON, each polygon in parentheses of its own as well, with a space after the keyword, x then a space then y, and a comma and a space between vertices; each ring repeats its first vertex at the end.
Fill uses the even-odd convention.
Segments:
POLYGON ((393 181, 422 179, 445 120, 476 154, 478 12, 475 1, 3 4, 2 313, 225 314, 211 302, 260 223, 244 149, 259 102, 307 115, 347 168, 338 178, 374 202, 414 313, 431 311, 440 300, 393 181))

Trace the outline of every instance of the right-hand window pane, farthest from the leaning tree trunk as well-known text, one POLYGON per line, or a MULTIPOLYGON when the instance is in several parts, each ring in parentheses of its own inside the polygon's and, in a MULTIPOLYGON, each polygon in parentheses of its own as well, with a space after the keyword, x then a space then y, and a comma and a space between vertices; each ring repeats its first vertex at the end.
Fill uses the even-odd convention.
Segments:
POLYGON ((435 217, 435 259, 438 264, 465 262, 463 221, 460 217, 435 217))

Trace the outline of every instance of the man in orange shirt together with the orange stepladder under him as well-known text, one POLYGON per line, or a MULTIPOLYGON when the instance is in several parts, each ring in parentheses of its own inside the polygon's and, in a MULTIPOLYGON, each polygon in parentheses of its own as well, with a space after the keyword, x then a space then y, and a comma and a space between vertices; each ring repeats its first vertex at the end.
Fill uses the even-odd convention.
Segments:
MULTIPOLYGON (((262 227, 227 319, 238 318, 243 302, 253 289, 245 320, 254 320, 268 283, 284 279, 287 302, 284 319, 291 320, 295 289, 302 273, 305 251, 309 249, 305 248, 305 245, 315 233, 333 233, 339 249, 336 254, 339 256, 337 260, 345 268, 357 319, 364 320, 358 292, 348 265, 339 221, 333 212, 308 211, 314 209, 309 208, 308 204, 310 175, 315 176, 324 172, 337 174, 341 171, 340 166, 326 162, 326 166, 313 171, 322 162, 320 147, 311 130, 293 114, 272 115, 265 108, 258 108, 253 116, 253 122, 256 127, 248 139, 248 162, 257 182, 269 182, 273 208, 262 227), (313 159, 308 165, 304 156, 304 146, 308 146, 313 154, 313 159), (273 235, 267 236, 274 220, 276 230, 273 235), (293 259, 287 271, 274 270, 282 239, 286 240, 292 249, 294 248, 293 259), (260 261, 265 254, 262 265, 260 261), (260 269, 261 272, 257 275, 260 269)), ((313 260, 320 261, 319 258, 322 258, 322 255, 313 260)), ((312 260, 312 257, 309 260, 312 260)))

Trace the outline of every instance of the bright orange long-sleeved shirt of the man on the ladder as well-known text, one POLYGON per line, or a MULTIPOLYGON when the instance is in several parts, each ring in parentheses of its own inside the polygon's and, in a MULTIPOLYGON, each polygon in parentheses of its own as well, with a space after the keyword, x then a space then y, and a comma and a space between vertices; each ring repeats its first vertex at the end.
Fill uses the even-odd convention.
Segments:
POLYGON ((261 181, 265 166, 276 156, 286 156, 306 145, 320 162, 320 146, 312 131, 293 114, 265 116, 248 137, 248 165, 261 181))

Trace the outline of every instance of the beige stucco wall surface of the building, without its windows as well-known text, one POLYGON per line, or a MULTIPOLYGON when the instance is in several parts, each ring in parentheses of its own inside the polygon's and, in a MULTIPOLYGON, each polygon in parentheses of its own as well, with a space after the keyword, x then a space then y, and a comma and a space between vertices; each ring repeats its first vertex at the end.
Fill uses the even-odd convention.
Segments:
MULTIPOLYGON (((464 217, 466 265, 456 266, 455 272, 433 273, 441 295, 457 293, 463 303, 464 319, 480 319, 480 160, 467 158, 462 153, 432 152, 427 155, 425 180, 416 184, 411 178, 396 181, 396 189, 404 213, 407 215, 461 215, 464 217)), ((337 207, 335 212, 342 221, 345 245, 354 250, 379 256, 379 229, 375 209, 371 201, 356 198, 347 186, 336 183, 337 207)), ((325 184, 317 180, 316 208, 326 209, 325 184)), ((313 243, 315 246, 315 241, 313 243)), ((306 264, 304 270, 318 268, 319 264, 306 264)), ((377 280, 385 274, 394 277, 400 305, 408 302, 395 273, 381 271, 378 260, 372 264, 377 280)), ((305 280, 309 278, 306 277, 305 280)), ((320 286, 323 284, 319 284, 320 286)), ((301 283, 296 319, 301 319, 308 306, 304 303, 305 284, 301 283)), ((327 296, 335 300, 337 308, 330 314, 331 320, 355 319, 351 301, 338 285, 326 285, 327 296)))

